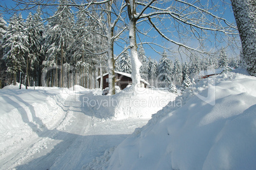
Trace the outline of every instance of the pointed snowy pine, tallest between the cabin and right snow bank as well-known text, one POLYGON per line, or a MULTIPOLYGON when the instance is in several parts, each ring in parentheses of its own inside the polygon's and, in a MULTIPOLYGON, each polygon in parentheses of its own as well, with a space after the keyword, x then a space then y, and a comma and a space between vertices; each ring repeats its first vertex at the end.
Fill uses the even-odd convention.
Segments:
POLYGON ((173 62, 167 58, 167 53, 164 51, 162 53, 162 59, 159 61, 158 67, 158 79, 157 81, 161 81, 161 87, 168 87, 169 83, 171 83, 172 74, 173 74, 173 62))

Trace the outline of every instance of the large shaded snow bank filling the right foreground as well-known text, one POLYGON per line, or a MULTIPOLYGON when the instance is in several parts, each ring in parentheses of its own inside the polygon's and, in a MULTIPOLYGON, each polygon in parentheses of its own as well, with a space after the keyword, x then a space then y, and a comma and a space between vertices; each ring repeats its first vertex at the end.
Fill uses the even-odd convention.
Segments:
POLYGON ((125 139, 106 169, 255 169, 256 78, 226 73, 187 89, 125 139))

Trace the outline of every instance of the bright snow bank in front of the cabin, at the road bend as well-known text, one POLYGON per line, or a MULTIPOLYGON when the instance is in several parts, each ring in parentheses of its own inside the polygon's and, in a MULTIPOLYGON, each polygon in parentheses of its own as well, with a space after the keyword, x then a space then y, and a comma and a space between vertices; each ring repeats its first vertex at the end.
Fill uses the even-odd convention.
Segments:
POLYGON ((99 118, 151 118, 170 101, 176 94, 145 88, 127 87, 113 96, 101 96, 97 91, 83 92, 83 107, 92 110, 99 118))

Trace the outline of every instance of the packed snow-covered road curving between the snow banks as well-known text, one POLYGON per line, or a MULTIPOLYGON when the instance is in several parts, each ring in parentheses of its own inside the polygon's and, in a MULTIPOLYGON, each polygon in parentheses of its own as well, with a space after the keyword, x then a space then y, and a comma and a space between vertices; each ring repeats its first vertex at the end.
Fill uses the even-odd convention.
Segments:
POLYGON ((94 117, 94 113, 82 107, 81 99, 81 95, 69 95, 62 106, 64 117, 50 129, 27 122, 37 135, 1 153, 1 169, 82 169, 148 122, 141 118, 94 117))

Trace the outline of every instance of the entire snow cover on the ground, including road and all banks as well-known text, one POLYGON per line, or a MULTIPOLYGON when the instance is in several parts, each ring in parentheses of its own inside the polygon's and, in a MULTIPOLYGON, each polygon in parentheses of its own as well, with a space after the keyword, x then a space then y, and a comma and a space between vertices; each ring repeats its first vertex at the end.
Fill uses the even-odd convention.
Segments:
POLYGON ((5 87, 1 169, 255 169, 256 78, 239 73, 197 81, 181 96, 5 87))

